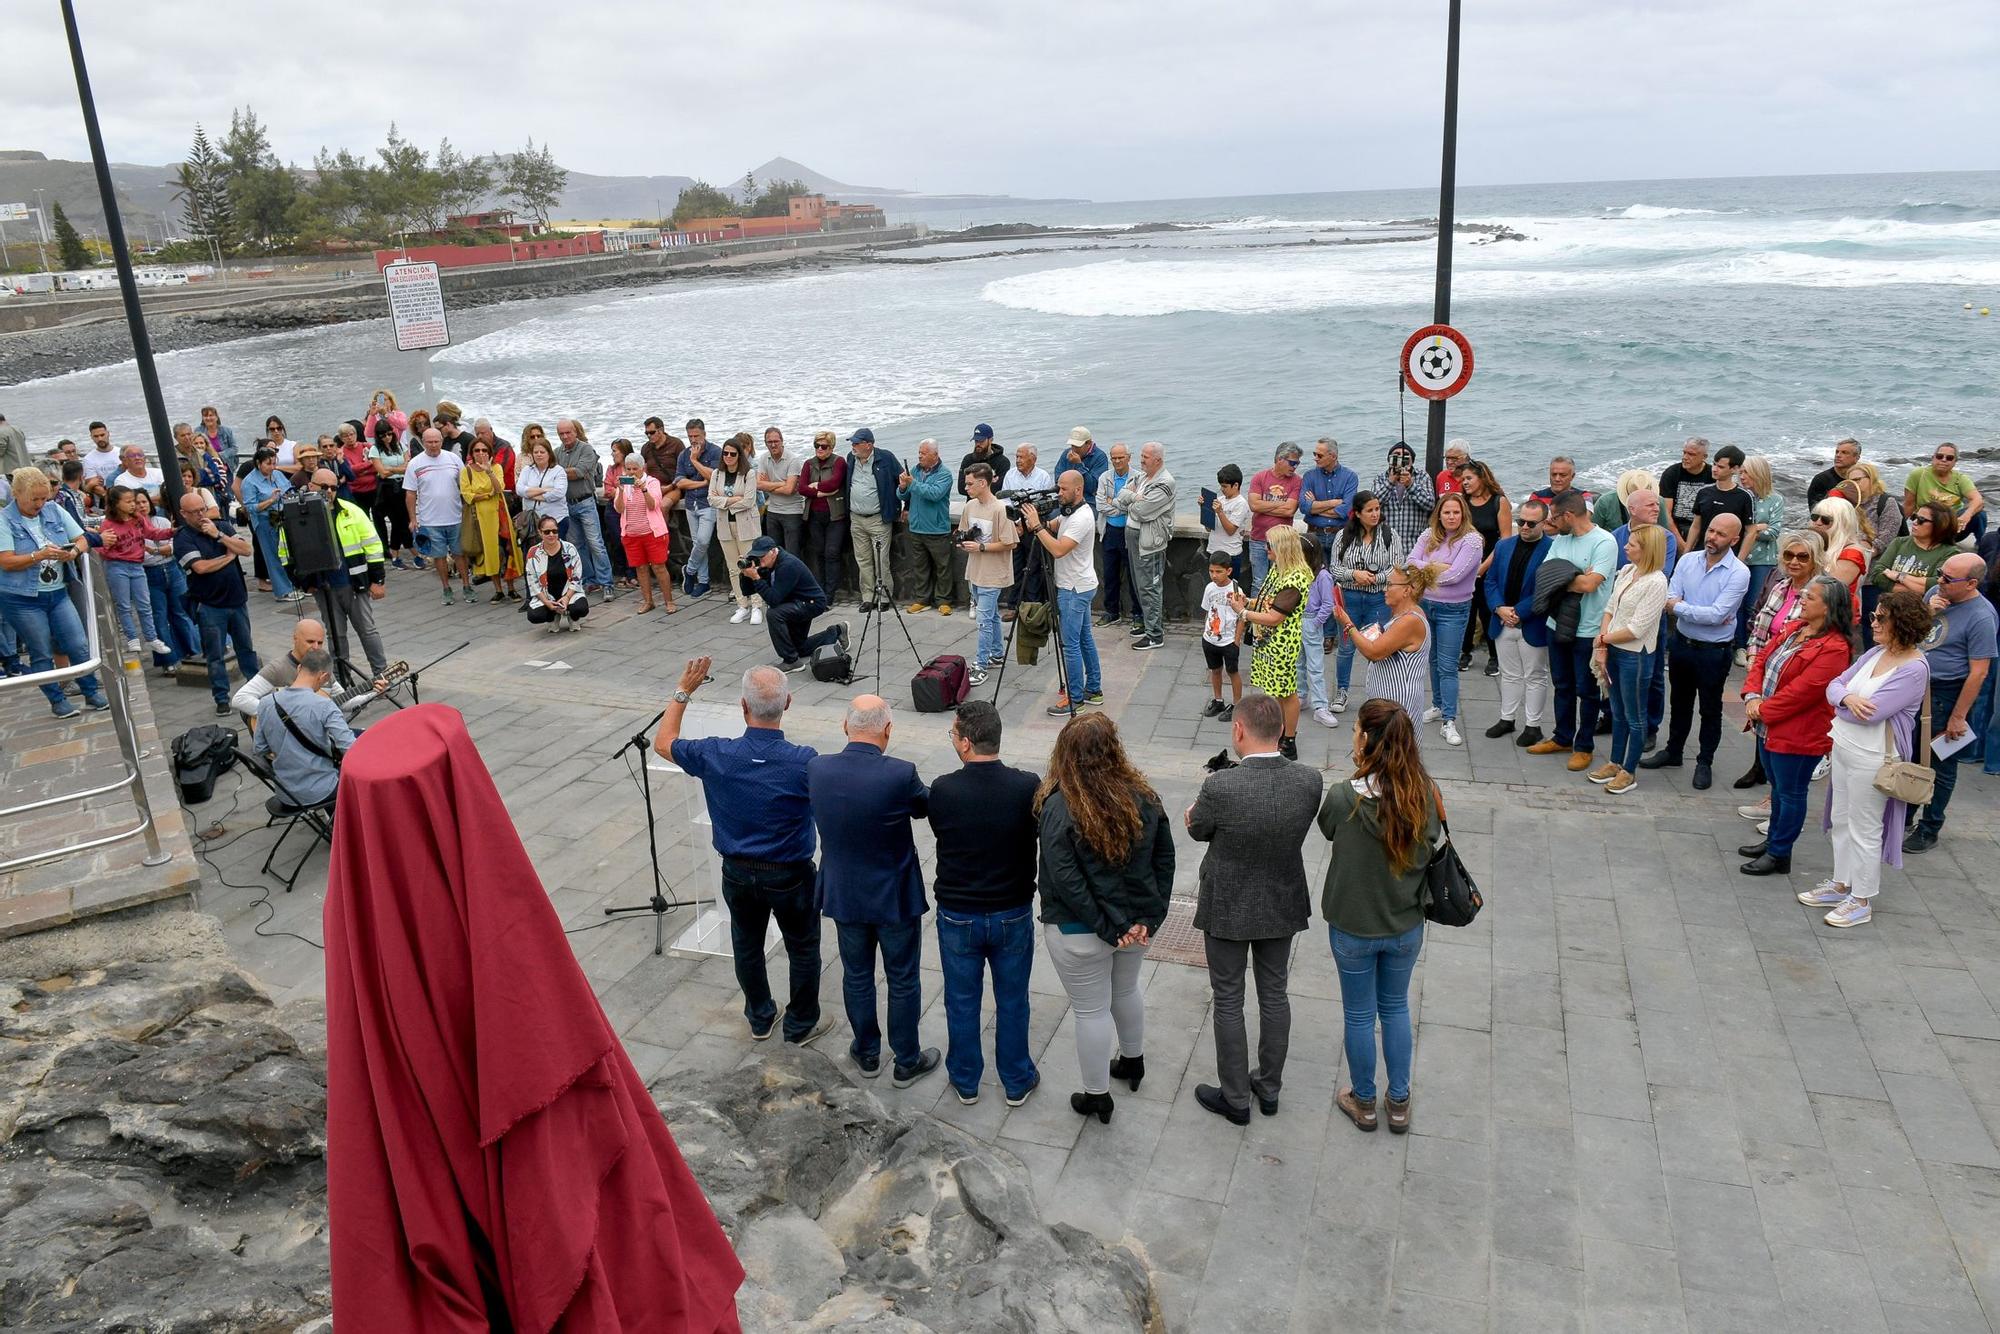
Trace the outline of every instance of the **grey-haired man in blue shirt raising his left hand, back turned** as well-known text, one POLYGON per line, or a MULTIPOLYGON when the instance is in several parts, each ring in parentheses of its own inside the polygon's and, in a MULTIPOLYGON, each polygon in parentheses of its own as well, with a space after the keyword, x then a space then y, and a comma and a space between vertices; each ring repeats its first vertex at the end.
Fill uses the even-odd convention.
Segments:
POLYGON ((768 666, 744 672, 742 736, 684 738, 680 722, 688 700, 708 680, 708 658, 694 658, 680 674, 652 750, 702 784, 722 858, 722 902, 730 906, 730 950, 750 1036, 762 1042, 778 1026, 764 968, 764 934, 776 918, 792 964, 784 1040, 806 1046, 834 1026, 830 1014, 820 1014, 820 908, 812 892, 812 802, 806 796, 806 762, 816 752, 784 740, 792 688, 784 672, 768 666))

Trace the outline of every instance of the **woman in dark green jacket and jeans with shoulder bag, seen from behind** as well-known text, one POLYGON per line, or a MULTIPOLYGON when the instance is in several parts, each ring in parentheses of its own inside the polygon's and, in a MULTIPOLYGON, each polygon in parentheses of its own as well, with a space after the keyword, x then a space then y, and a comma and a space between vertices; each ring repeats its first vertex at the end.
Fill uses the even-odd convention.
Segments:
POLYGON ((1320 804, 1320 832, 1334 846, 1320 914, 1340 968, 1352 1080, 1336 1106, 1360 1130, 1376 1128, 1378 1020, 1388 1128, 1410 1128, 1410 974, 1424 946, 1424 866, 1440 820, 1410 714, 1394 700, 1368 700, 1354 720, 1354 778, 1330 784, 1320 804))

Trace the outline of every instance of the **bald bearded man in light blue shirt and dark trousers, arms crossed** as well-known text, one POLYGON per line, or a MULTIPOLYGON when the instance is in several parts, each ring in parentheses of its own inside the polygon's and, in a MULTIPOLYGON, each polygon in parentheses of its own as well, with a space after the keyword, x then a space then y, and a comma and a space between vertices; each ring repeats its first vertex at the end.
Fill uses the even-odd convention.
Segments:
POLYGON ((1672 712, 1666 744, 1638 762, 1640 768, 1680 768, 1694 700, 1702 700, 1700 750, 1694 754, 1694 790, 1712 782, 1716 744, 1722 740, 1722 688, 1730 680, 1736 644, 1736 616, 1750 588, 1750 566, 1736 560, 1736 540, 1744 534, 1734 514, 1716 514, 1702 530, 1702 550, 1674 562, 1666 586, 1668 640, 1666 684, 1672 712))

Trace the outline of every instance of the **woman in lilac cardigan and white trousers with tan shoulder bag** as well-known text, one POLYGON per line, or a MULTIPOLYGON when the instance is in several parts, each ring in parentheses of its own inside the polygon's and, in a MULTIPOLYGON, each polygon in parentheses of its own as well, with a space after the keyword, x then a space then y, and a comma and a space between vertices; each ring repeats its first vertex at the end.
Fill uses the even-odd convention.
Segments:
POLYGON ((1894 752, 1916 760, 1916 710, 1930 694, 1924 636, 1930 612, 1906 588, 1882 594, 1874 610, 1876 646, 1834 678, 1834 776, 1826 784, 1826 830, 1834 874, 1798 902, 1830 908, 1828 926, 1860 926, 1882 888, 1882 864, 1902 866, 1904 804, 1876 792, 1874 776, 1894 752))

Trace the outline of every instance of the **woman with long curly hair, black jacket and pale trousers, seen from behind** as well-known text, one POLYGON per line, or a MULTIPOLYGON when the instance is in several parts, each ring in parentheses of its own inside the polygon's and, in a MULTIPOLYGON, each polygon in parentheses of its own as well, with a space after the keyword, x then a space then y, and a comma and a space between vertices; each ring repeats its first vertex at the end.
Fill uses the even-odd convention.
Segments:
POLYGON ((1078 714, 1056 736, 1036 792, 1042 938, 1076 1012, 1084 1090, 1070 1108, 1112 1118, 1112 1080, 1146 1078, 1138 970, 1174 892, 1174 836, 1160 794, 1126 758, 1118 724, 1078 714), (1112 1040, 1118 1060, 1112 1060, 1112 1040))

